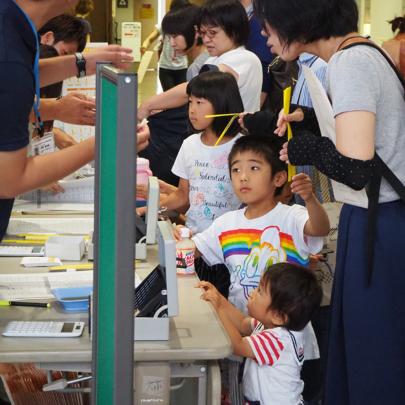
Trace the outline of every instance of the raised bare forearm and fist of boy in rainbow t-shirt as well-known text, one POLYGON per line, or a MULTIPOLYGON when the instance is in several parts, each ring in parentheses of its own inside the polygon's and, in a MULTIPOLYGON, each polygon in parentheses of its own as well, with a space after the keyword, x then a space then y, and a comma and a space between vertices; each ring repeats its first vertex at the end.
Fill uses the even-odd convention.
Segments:
POLYGON ((304 234, 307 236, 327 235, 331 228, 328 214, 312 192, 311 179, 304 173, 297 174, 293 176, 291 189, 304 199, 308 211, 309 219, 304 226, 304 234))

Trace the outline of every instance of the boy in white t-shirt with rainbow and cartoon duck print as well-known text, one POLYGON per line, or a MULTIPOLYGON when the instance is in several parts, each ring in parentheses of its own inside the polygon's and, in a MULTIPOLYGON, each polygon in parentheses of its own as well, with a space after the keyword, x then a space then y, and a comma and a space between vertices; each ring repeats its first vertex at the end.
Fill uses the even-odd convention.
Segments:
MULTIPOLYGON (((247 207, 221 215, 193 237, 195 257, 203 256, 211 266, 227 266, 231 277, 228 300, 245 315, 250 293, 259 285, 264 269, 279 262, 307 266, 309 255, 322 249, 322 236, 330 230, 328 215, 313 195, 307 175, 297 174, 291 184, 306 207, 276 203, 287 180, 280 147, 276 137, 247 135, 235 141, 228 156, 229 171, 233 190, 247 207)), ((180 227, 174 232, 179 240, 180 227)), ((314 336, 306 355, 319 357, 314 336)), ((229 361, 230 380, 238 374, 240 361, 229 361)), ((240 403, 232 391, 231 402, 240 403)))

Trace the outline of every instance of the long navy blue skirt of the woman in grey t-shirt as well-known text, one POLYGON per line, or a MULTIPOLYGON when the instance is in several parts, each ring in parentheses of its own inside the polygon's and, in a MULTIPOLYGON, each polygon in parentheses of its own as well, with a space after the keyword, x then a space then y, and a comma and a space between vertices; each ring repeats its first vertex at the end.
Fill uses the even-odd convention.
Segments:
POLYGON ((367 210, 339 219, 325 405, 405 404, 405 204, 379 204, 366 287, 367 210))

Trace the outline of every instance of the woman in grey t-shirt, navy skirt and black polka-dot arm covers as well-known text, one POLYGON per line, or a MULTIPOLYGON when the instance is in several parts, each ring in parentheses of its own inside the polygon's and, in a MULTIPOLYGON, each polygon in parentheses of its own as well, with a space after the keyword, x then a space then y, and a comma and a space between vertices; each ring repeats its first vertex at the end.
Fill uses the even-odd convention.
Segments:
MULTIPOLYGON (((303 135, 284 146, 281 158, 314 165, 355 190, 366 186, 369 197, 368 209, 344 204, 340 215, 325 404, 402 404, 405 205, 387 182, 389 172, 380 186, 378 156, 403 184, 403 87, 378 49, 338 52, 360 37, 355 0, 255 0, 254 7, 272 52, 285 60, 308 52, 328 62, 336 147, 303 135)), ((286 119, 279 119, 280 132, 286 119)))

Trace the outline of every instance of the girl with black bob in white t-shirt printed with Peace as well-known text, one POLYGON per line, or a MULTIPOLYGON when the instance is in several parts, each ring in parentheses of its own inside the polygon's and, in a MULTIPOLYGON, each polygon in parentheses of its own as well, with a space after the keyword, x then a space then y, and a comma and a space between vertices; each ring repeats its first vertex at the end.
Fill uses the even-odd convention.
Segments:
MULTIPOLYGON (((214 145, 229 123, 229 116, 206 118, 206 115, 237 113, 244 105, 237 83, 227 72, 206 72, 187 85, 189 126, 191 133, 183 141, 172 172, 180 177, 179 187, 161 201, 167 210, 190 203, 186 226, 194 234, 210 227, 220 215, 237 210, 241 204, 235 195, 228 170, 228 154, 238 139, 237 120, 228 128, 218 145, 214 145)), ((200 279, 210 279, 227 296, 229 271, 225 265, 208 266, 203 258, 195 260, 200 279)))

